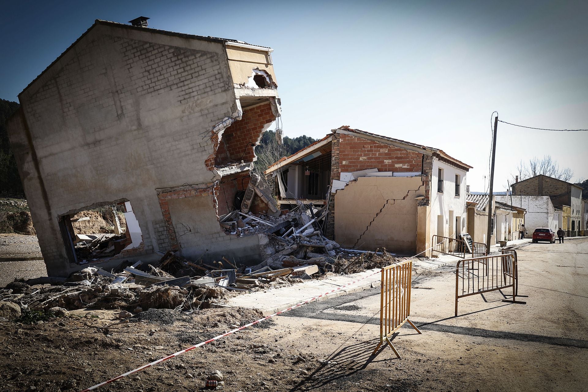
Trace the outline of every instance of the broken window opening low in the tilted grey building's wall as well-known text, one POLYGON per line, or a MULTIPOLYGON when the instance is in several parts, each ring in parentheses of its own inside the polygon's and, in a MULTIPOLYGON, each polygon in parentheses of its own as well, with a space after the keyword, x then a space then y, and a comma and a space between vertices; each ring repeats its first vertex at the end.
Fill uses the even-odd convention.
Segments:
POLYGON ((131 202, 97 203, 59 217, 66 253, 72 263, 102 262, 142 249, 143 236, 131 202))

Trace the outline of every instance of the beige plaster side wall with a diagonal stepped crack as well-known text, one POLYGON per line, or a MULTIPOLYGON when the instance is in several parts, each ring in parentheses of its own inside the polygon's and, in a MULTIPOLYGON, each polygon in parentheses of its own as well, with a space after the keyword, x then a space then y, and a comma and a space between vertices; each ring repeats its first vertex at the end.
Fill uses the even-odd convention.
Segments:
POLYGON ((360 177, 335 194, 335 237, 342 247, 414 253, 417 248, 417 177, 360 177))

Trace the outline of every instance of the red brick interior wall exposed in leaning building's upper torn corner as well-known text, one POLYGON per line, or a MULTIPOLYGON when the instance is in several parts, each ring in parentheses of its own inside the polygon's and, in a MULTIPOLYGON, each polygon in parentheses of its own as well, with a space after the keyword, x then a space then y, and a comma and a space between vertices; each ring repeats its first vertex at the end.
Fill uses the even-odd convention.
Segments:
POLYGON ((269 102, 243 110, 239 121, 232 123, 223 132, 216 151, 215 165, 230 162, 253 162, 253 145, 259 142, 263 126, 276 119, 269 102))

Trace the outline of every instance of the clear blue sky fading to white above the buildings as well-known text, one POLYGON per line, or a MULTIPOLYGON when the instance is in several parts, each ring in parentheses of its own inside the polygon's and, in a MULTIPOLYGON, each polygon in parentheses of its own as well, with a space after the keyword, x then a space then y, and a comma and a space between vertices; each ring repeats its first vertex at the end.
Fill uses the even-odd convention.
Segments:
MULTIPOLYGON (((0 14, 0 98, 17 95, 94 19, 271 46, 286 136, 341 125, 445 150, 484 190, 490 114, 588 129, 586 1, 20 1, 0 14)), ((549 154, 588 178, 588 132, 499 123, 496 190, 549 154)))

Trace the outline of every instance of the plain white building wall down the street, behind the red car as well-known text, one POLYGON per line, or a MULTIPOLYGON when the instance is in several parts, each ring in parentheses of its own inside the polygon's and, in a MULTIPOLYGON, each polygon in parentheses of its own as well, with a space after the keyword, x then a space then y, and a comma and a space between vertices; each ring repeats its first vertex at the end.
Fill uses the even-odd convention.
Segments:
POLYGON ((524 216, 527 238, 530 238, 537 227, 551 227, 553 230, 557 226, 557 216, 554 215, 555 210, 549 196, 496 195, 495 200, 527 210, 524 216))

